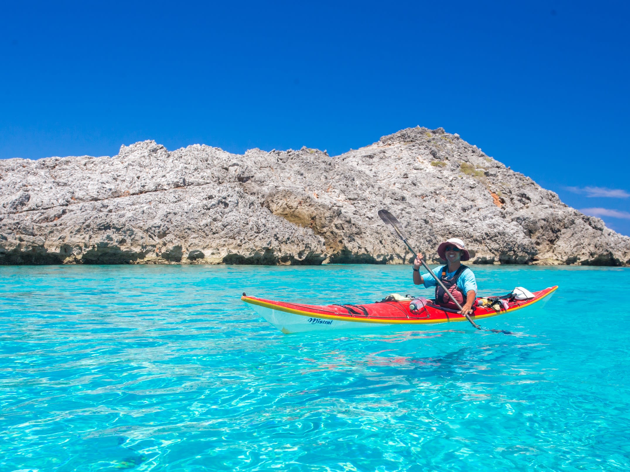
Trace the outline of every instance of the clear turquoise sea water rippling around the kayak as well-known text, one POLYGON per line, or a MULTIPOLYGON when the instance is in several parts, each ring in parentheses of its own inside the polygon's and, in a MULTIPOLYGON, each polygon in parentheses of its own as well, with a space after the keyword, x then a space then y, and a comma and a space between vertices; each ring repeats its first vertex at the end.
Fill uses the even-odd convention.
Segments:
POLYGON ((603 298, 630 270, 475 273, 560 288, 482 323, 515 335, 283 335, 241 292, 428 292, 408 266, 0 267, 0 471, 629 469, 630 315, 603 298))

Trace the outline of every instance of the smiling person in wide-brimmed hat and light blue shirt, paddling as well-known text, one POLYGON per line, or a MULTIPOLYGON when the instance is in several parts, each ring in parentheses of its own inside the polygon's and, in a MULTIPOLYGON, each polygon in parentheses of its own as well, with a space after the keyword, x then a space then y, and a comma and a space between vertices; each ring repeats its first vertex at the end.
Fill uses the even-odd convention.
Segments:
MULTIPOLYGON (((447 239, 437 248, 440 259, 447 261, 446 266, 433 269, 433 274, 439 277, 445 287, 462 305, 464 312, 473 313, 473 303, 477 296, 477 281, 470 267, 464 266, 461 261, 468 261, 471 256, 464 247, 464 241, 457 238, 447 239)), ((422 254, 418 254, 413 262, 413 283, 424 284, 426 288, 435 287, 435 301, 445 308, 457 310, 457 305, 450 300, 444 289, 437 285, 435 278, 429 273, 420 274, 422 254)), ((461 313, 458 311, 458 313, 461 313)))

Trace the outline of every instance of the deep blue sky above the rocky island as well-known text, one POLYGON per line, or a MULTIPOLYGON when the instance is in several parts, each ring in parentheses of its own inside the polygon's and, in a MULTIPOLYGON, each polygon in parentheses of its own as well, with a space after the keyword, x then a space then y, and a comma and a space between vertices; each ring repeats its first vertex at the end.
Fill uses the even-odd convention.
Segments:
POLYGON ((0 2, 0 158, 443 126, 630 235, 630 3, 0 2))

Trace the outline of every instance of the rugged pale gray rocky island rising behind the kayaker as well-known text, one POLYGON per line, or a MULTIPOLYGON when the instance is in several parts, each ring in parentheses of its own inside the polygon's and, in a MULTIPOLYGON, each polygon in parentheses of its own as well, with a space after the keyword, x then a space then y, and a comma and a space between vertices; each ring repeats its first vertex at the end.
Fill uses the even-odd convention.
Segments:
POLYGON ((0 161, 0 264, 401 263, 463 239, 477 264, 629 265, 630 238, 442 128, 316 149, 0 161))

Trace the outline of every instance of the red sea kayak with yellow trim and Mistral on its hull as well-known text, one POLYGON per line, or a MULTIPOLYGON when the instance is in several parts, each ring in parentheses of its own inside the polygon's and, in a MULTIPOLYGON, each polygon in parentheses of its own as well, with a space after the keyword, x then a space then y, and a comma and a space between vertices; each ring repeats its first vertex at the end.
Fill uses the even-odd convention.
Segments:
MULTIPOLYGON (((513 296, 485 297, 486 300, 499 300, 493 306, 475 306, 473 320, 496 317, 532 306, 541 300, 548 300, 558 286, 532 292, 529 300, 516 300, 513 296), (505 303, 504 303, 505 302, 505 303), (499 308, 500 307, 500 308, 499 308)), ((391 297, 387 297, 391 298, 391 297)), ((261 317, 272 323, 285 334, 306 331, 328 331, 340 329, 364 329, 383 326, 418 329, 419 325, 466 321, 466 317, 455 310, 449 310, 433 303, 425 303, 416 310, 410 309, 411 298, 377 301, 376 303, 338 305, 306 305, 288 301, 265 300, 243 293, 245 303, 251 305, 261 317)), ((479 299, 478 299, 479 300, 479 299)), ((412 308, 415 305, 412 305, 412 308)))

